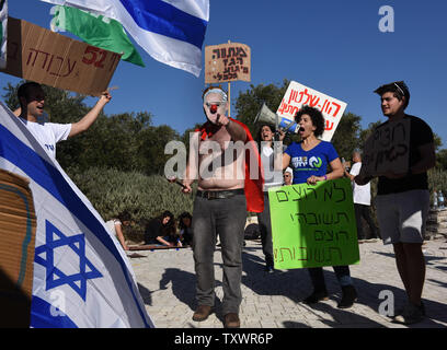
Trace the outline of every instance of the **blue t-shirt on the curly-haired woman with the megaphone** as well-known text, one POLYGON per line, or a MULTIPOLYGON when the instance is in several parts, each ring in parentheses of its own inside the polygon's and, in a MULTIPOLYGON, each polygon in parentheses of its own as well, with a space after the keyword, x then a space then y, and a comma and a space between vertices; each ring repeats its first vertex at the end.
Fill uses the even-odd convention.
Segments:
POLYGON ((301 143, 293 142, 285 153, 290 155, 294 184, 303 184, 312 175, 324 176, 329 163, 339 158, 334 147, 328 141, 321 141, 310 151, 305 151, 301 143))

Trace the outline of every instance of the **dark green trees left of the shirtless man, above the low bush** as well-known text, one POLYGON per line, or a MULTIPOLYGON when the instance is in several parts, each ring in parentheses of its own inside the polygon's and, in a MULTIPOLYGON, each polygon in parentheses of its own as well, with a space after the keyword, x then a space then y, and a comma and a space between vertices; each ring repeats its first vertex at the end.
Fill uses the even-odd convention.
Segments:
MULTIPOLYGON (((20 84, 8 84, 3 97, 11 109, 18 108, 16 91, 20 84)), ((69 124, 80 120, 91 107, 84 103, 87 96, 43 85, 46 94, 45 110, 51 122, 69 124)), ((144 174, 161 174, 169 155, 164 147, 180 139, 170 126, 152 126, 152 114, 148 112, 124 113, 106 116, 101 113, 87 130, 60 142, 57 160, 62 166, 77 166, 87 171, 91 166, 138 171, 144 174)))

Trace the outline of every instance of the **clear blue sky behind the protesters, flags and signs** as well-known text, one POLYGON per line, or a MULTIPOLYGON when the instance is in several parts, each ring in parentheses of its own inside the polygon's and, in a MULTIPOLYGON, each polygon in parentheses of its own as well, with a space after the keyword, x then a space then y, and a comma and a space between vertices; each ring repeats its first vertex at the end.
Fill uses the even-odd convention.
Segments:
MULTIPOLYGON (((11 16, 46 28, 50 8, 38 0, 9 1, 11 16)), ((251 47, 252 81, 231 83, 232 103, 250 84, 289 79, 346 102, 346 112, 362 116, 363 128, 386 120, 373 91, 404 80, 411 92, 406 112, 426 120, 446 148, 446 15, 445 0, 210 0, 204 46, 231 40, 251 47), (393 33, 379 31, 382 5, 394 11, 393 33)), ((154 125, 179 132, 203 122, 204 70, 195 78, 139 52, 146 68, 118 65, 111 86, 119 89, 105 113, 147 110, 154 125)), ((0 88, 18 81, 0 73, 0 88)))

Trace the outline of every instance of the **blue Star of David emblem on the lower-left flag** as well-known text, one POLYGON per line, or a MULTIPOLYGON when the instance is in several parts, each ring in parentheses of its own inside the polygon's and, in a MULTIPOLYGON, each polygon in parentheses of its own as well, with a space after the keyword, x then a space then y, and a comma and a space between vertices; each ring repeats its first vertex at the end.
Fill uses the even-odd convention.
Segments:
MULTIPOLYGON (((46 268, 46 289, 50 290, 59 285, 68 284, 85 301, 87 280, 103 277, 85 256, 85 235, 83 233, 66 236, 48 220, 45 221, 45 245, 41 245, 35 250, 35 262, 46 268), (56 240, 55 240, 56 238, 56 240), (67 261, 66 266, 79 271, 67 275, 55 266, 55 249, 65 248, 62 257, 57 256, 57 266, 61 267, 61 261, 66 257, 76 254, 79 257, 79 266, 76 259, 67 261), (71 249, 71 252, 69 250, 71 249), (45 257, 43 257, 45 255, 45 257)), ((68 258, 67 258, 68 259, 68 258)))

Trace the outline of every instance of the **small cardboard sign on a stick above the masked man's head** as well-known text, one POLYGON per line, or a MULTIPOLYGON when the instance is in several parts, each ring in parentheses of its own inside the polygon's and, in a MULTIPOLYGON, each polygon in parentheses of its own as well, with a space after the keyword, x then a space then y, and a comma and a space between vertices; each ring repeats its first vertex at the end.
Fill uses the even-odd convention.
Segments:
POLYGON ((205 47, 205 83, 250 81, 251 51, 244 44, 229 43, 205 47))

